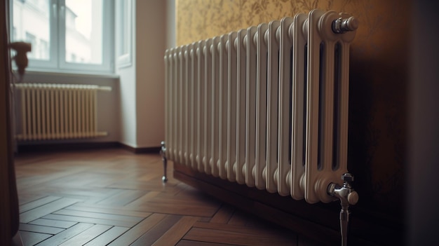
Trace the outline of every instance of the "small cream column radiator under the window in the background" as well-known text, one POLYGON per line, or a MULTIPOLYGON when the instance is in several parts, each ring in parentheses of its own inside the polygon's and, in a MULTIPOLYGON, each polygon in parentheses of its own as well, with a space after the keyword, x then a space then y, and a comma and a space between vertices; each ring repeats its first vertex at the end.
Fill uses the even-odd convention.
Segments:
POLYGON ((97 91, 108 86, 16 83, 22 141, 105 136, 97 130, 97 91))

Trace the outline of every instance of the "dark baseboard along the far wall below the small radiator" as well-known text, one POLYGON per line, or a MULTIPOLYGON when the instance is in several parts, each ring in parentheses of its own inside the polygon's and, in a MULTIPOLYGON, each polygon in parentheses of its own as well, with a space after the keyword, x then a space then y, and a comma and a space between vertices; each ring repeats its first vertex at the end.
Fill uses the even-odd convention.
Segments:
POLYGON ((112 149, 122 148, 133 153, 158 153, 157 147, 135 148, 120 142, 77 142, 77 143, 50 143, 50 144, 18 144, 18 153, 43 152, 43 151, 75 151, 85 149, 112 149))

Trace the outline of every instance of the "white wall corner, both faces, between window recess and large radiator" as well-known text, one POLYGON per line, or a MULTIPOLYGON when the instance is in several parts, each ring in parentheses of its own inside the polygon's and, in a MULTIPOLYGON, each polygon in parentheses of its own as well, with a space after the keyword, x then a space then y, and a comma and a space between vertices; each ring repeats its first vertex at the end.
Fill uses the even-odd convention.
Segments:
POLYGON ((121 78, 121 142, 134 148, 160 146, 165 137, 166 1, 133 4, 133 65, 117 69, 121 78))

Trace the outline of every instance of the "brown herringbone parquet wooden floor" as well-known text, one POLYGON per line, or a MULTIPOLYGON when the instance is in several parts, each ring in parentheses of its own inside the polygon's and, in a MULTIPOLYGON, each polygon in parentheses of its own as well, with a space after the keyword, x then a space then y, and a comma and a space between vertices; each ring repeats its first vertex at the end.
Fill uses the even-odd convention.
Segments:
POLYGON ((15 157, 23 245, 315 245, 163 175, 124 149, 15 157))

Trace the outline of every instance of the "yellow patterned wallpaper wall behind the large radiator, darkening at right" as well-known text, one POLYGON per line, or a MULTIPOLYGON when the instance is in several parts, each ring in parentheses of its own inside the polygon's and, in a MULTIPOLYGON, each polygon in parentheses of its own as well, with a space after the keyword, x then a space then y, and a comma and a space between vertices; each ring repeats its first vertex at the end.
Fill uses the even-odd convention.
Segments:
POLYGON ((177 45, 280 20, 314 8, 349 13, 349 170, 359 205, 403 214, 410 0, 177 0, 177 45))

